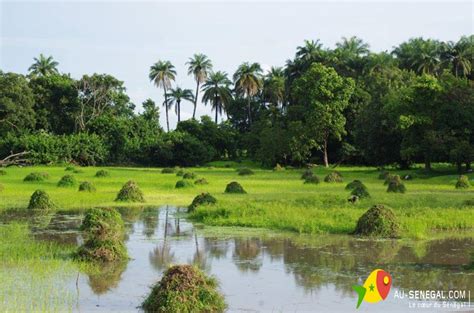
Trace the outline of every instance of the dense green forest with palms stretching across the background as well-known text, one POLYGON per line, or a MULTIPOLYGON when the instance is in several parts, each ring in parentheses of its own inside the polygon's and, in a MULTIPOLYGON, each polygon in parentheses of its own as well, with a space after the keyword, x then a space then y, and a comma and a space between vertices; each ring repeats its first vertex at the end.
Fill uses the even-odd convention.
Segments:
POLYGON ((356 37, 334 49, 305 41, 284 67, 266 73, 244 62, 230 75, 195 54, 186 63, 192 89, 174 87, 173 64, 159 60, 144 75, 163 92, 163 108, 148 99, 138 114, 118 78, 74 79, 40 55, 26 76, 0 71, 0 159, 194 166, 250 158, 268 167, 424 163, 428 169, 450 162, 470 170, 473 56, 474 35, 457 42, 414 38, 381 53, 356 37), (194 107, 193 116, 197 106, 210 105, 215 116, 183 121, 183 105, 194 107), (160 125, 160 114, 167 125, 160 125), (170 114, 178 116, 175 130, 170 114))

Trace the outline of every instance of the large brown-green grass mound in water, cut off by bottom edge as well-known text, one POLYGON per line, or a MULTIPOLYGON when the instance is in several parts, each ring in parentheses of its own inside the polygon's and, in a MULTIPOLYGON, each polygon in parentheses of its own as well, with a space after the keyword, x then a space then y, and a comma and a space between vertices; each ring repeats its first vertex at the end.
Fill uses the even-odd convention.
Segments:
POLYGON ((192 265, 170 267, 143 301, 145 312, 224 312, 217 281, 192 265))

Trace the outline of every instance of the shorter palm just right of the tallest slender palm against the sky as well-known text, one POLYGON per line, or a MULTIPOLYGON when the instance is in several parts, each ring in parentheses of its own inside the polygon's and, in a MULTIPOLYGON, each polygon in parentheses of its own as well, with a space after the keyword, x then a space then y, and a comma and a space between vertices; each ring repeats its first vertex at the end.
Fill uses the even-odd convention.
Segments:
POLYGON ((229 88, 231 83, 227 78, 227 73, 218 71, 215 73, 211 72, 209 78, 202 86, 204 91, 202 100, 206 104, 210 102, 212 110, 216 111, 216 124, 218 115, 222 115, 222 112, 226 111, 226 106, 232 100, 232 91, 229 88))

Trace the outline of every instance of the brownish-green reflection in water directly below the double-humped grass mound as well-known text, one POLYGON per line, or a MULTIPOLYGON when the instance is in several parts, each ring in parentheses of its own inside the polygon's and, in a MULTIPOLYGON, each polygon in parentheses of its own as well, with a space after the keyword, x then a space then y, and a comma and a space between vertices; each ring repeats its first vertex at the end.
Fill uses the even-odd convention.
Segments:
POLYGON ((97 265, 99 268, 89 274, 89 286, 96 295, 107 293, 118 286, 128 261, 112 262, 97 265))

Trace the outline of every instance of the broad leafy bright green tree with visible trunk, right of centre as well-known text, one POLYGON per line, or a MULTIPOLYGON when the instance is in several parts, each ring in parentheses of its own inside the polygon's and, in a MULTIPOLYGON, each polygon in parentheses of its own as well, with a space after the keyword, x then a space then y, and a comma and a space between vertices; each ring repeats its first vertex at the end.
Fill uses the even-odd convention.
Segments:
POLYGON ((306 108, 306 132, 323 152, 324 165, 329 166, 329 137, 340 139, 345 133, 342 114, 354 90, 354 81, 339 76, 332 68, 315 63, 297 79, 294 98, 306 108))

